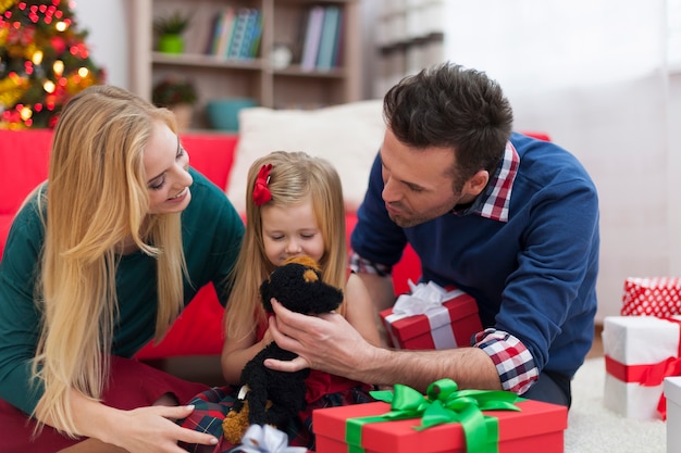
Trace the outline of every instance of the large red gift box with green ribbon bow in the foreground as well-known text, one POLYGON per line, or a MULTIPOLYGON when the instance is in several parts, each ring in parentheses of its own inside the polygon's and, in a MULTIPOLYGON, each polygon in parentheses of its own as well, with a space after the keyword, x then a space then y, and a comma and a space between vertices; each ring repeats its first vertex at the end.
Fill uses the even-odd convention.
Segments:
POLYGON ((389 404, 322 408, 312 417, 323 453, 562 453, 568 425, 565 406, 506 391, 458 391, 450 379, 432 383, 428 397, 396 385, 389 404))

